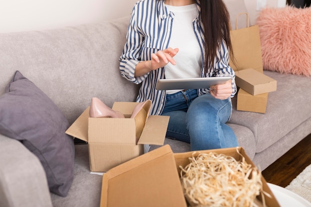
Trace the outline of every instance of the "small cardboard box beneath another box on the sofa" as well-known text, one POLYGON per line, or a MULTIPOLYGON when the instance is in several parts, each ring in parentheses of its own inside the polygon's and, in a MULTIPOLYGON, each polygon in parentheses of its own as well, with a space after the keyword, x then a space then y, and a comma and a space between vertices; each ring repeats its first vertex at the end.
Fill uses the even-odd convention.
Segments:
POLYGON ((268 95, 269 93, 263 93, 254 96, 240 88, 237 92, 236 110, 264 114, 266 113, 268 95))

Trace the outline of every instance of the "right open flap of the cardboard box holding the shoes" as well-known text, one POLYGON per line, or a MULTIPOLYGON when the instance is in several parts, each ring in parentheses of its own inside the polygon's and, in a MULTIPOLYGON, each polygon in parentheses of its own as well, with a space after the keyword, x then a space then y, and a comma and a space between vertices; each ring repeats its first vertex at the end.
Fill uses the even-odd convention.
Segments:
POLYGON ((138 143, 163 145, 168 120, 169 116, 149 116, 138 143))

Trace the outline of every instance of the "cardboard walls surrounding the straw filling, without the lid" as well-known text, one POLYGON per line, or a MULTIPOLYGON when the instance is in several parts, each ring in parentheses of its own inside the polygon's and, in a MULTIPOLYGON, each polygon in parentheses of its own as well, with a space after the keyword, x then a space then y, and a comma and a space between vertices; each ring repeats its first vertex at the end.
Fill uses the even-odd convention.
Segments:
MULTIPOLYGON (((223 148, 223 149, 211 149, 211 150, 202 150, 202 151, 191 151, 191 152, 185 152, 185 153, 175 153, 174 157, 175 157, 176 167, 178 169, 178 174, 180 174, 179 166, 185 167, 187 164, 190 163, 189 157, 192 157, 193 155, 194 156, 198 155, 199 153, 209 153, 209 152, 232 156, 236 160, 241 160, 243 156, 247 163, 251 164, 252 167, 256 167, 254 163, 251 161, 251 159, 247 156, 247 154, 245 153, 242 147, 232 147, 232 148, 223 148), (239 153, 237 153, 236 150, 238 150, 239 153)), ((275 196, 273 195, 272 191, 267 185, 266 180, 263 177, 261 177, 261 182, 262 182, 263 191, 268 193, 271 196, 271 198, 269 198, 268 196, 264 195, 266 205, 268 207, 280 207, 275 196)), ((257 199, 261 201, 261 196, 257 196, 257 199)))

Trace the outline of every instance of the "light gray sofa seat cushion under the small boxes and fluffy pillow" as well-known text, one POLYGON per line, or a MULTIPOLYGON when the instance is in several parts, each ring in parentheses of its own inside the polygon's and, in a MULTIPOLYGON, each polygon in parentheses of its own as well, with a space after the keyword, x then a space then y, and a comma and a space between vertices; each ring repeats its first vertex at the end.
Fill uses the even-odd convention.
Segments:
POLYGON ((310 77, 267 70, 264 73, 277 80, 277 90, 269 93, 266 113, 237 111, 235 96, 229 121, 251 130, 257 153, 276 143, 311 117, 311 96, 306 94, 311 88, 310 77))

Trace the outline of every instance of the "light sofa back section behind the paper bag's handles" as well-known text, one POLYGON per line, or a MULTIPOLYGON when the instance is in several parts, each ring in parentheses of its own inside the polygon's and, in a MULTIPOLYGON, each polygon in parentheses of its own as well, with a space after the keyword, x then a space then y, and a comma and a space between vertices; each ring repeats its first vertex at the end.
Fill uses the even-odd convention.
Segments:
MULTIPOLYGON (((236 16, 239 13, 247 12, 244 0, 224 0, 225 4, 227 5, 229 14, 230 14, 230 24, 231 28, 235 29, 235 20, 236 16)), ((249 22, 249 25, 252 25, 249 22)), ((237 28, 244 28, 246 27, 246 15, 240 15, 237 19, 237 28)))

